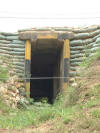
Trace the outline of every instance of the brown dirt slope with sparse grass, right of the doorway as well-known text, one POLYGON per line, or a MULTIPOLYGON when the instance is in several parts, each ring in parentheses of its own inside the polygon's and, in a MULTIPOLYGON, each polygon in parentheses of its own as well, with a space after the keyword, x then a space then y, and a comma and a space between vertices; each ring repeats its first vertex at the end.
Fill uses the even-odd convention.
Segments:
MULTIPOLYGON (((100 132, 100 59, 81 67, 80 75, 74 79, 75 83, 77 86, 68 88, 63 101, 65 108, 71 108, 74 113, 66 114, 64 118, 47 121, 31 128, 31 131, 35 133, 100 132)), ((65 113, 64 110, 62 111, 65 113)), ((28 133, 28 129, 25 133, 28 133)))

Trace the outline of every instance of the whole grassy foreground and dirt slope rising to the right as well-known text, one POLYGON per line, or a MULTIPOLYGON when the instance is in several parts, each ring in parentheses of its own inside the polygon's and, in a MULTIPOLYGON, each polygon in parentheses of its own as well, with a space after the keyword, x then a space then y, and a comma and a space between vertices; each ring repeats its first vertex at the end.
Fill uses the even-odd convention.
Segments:
POLYGON ((100 54, 78 71, 52 106, 30 105, 12 112, 4 108, 6 115, 1 110, 0 133, 100 133, 100 54))

